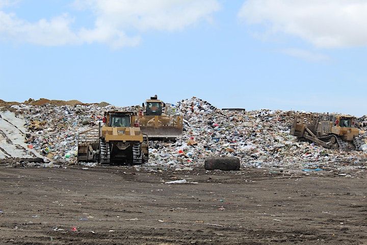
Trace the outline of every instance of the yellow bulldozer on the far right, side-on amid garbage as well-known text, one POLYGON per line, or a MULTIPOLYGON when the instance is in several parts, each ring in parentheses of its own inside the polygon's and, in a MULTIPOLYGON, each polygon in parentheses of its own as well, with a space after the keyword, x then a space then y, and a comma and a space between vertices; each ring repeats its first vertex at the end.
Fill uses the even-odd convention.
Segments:
POLYGON ((356 118, 350 115, 301 114, 294 118, 291 134, 328 149, 355 150, 360 144, 356 118))

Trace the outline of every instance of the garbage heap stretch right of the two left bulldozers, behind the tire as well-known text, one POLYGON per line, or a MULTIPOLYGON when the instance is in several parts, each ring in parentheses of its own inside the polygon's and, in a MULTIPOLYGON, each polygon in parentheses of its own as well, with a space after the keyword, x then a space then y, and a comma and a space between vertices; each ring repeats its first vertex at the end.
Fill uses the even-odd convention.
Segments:
MULTIPOLYGON (((294 111, 224 111, 193 97, 176 104, 186 118, 175 143, 153 142, 149 165, 187 168, 206 157, 237 156, 246 166, 359 165, 364 152, 325 149, 290 135, 294 111)), ((363 160, 363 164, 365 160, 363 160)), ((363 165, 362 164, 362 165, 363 165)))

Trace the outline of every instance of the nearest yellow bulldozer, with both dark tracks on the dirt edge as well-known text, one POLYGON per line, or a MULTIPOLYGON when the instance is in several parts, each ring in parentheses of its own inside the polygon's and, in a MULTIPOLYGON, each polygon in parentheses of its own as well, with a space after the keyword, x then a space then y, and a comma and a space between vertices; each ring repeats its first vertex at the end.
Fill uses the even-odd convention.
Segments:
POLYGON ((142 164, 148 161, 148 137, 136 121, 136 113, 109 111, 103 124, 78 135, 78 162, 142 164))

